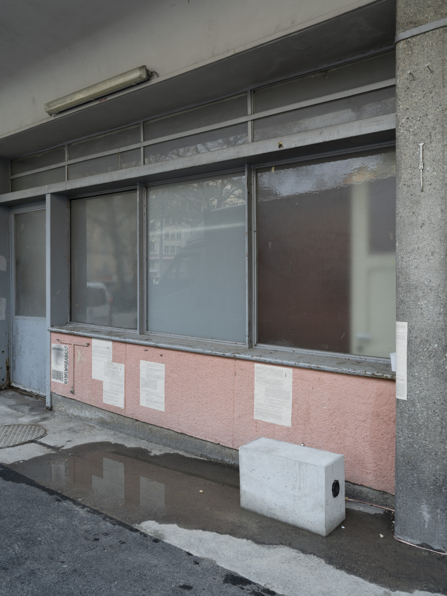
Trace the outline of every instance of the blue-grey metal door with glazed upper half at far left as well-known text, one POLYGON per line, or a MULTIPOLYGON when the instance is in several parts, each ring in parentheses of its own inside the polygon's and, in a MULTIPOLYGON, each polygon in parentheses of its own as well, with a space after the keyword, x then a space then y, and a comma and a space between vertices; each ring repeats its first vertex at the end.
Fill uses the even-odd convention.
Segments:
POLYGON ((14 210, 11 384, 45 395, 45 204, 14 210))

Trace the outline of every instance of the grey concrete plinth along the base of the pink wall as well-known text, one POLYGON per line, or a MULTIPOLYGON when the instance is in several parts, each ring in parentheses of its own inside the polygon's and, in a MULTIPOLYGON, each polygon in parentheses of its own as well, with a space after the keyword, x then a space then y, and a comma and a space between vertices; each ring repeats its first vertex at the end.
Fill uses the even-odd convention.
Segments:
MULTIPOLYGON (((233 467, 239 465, 239 452, 237 449, 231 449, 203 439, 196 439, 175 430, 163 429, 163 427, 128 418, 122 414, 108 412, 88 403, 78 402, 76 399, 65 398, 57 395, 57 393, 51 393, 51 398, 52 409, 60 414, 98 424, 115 432, 128 434, 171 449, 178 449, 191 455, 204 457, 207 460, 218 461, 233 467)), ((352 482, 345 483, 345 491, 346 496, 351 499, 394 508, 394 495, 389 493, 375 491, 367 486, 356 485, 352 482)))

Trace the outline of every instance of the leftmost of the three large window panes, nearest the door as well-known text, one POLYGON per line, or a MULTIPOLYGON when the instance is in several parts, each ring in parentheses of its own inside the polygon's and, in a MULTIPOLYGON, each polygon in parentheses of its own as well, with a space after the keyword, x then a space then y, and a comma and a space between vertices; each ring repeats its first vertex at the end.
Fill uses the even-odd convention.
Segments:
POLYGON ((71 204, 72 321, 136 328, 136 192, 71 204))

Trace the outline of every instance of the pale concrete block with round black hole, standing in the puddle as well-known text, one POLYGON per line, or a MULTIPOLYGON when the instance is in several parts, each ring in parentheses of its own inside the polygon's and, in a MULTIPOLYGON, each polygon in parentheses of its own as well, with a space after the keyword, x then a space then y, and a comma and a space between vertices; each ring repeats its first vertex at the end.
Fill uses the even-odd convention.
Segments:
POLYGON ((261 437, 240 447, 239 469, 244 509, 321 536, 344 520, 343 455, 261 437))

